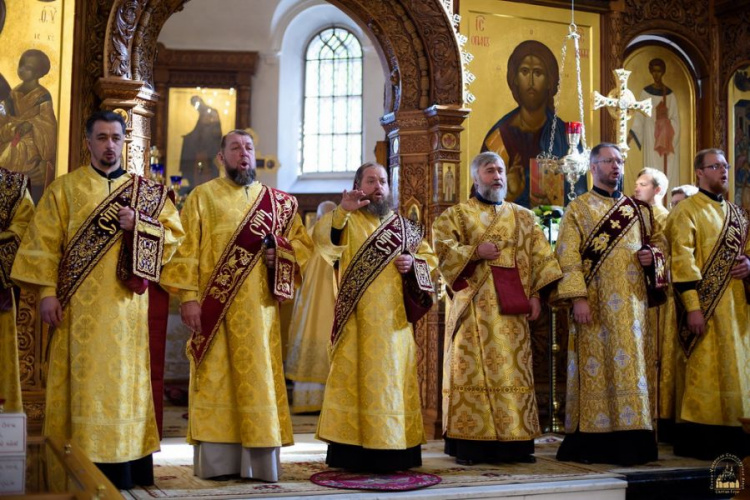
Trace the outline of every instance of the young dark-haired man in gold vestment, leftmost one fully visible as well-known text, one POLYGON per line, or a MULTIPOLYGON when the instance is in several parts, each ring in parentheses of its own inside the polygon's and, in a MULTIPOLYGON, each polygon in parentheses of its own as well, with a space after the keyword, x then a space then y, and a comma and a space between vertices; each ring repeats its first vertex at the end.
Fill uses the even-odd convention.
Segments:
POLYGON ((123 170, 120 115, 94 113, 86 139, 91 165, 56 179, 44 192, 12 277, 38 291, 42 321, 54 328, 44 434, 72 439, 116 487, 127 489, 153 484, 151 454, 159 450, 159 434, 148 295, 134 291, 120 263, 128 238, 144 234, 146 246, 161 250, 140 263, 158 271, 184 234, 166 189, 123 170), (157 207, 151 215, 115 201, 129 185, 145 188, 145 202, 157 207))

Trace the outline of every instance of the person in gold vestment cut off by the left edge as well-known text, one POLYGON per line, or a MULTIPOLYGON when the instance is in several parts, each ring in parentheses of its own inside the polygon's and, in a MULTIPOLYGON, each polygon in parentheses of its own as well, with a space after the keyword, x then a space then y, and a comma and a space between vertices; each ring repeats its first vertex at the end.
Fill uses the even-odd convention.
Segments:
POLYGON ((10 271, 18 244, 34 215, 28 178, 0 167, 0 400, 6 412, 19 413, 21 374, 18 365, 16 297, 10 271))

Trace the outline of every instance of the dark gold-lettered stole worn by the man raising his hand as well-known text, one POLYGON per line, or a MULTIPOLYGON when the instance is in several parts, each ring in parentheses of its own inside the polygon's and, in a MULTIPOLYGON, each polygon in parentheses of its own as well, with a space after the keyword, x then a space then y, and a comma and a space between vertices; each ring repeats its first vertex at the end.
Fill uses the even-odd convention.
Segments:
POLYGON ((341 338, 344 325, 367 287, 388 264, 403 253, 409 253, 414 258, 414 273, 402 275, 407 319, 414 323, 429 311, 432 306, 432 297, 429 294, 434 291, 430 266, 424 259, 415 255, 422 238, 421 226, 393 214, 365 240, 341 278, 333 315, 332 346, 335 347, 341 338))

